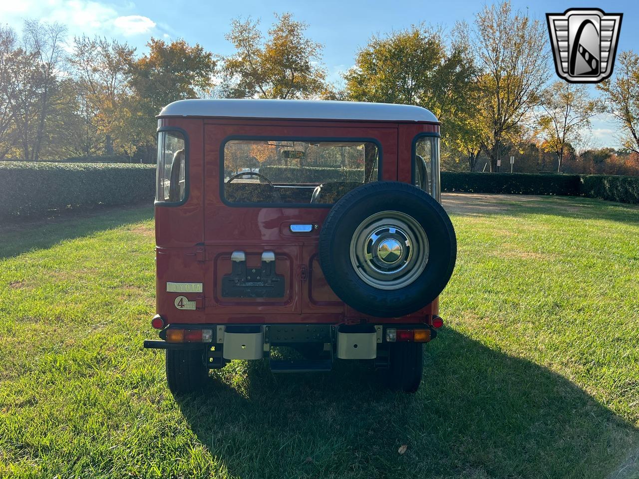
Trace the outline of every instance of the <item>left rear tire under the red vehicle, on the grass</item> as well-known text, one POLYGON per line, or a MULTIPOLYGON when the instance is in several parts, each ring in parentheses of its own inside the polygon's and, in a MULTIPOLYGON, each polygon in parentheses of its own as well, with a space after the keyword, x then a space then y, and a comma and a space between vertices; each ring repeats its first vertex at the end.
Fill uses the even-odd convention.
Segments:
POLYGON ((176 394, 200 391, 208 380, 204 349, 167 349, 166 382, 176 394))

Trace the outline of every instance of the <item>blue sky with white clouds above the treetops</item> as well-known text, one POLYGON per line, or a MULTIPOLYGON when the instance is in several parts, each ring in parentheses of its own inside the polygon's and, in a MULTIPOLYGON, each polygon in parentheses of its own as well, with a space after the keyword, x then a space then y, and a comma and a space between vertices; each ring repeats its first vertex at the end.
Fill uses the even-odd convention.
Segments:
MULTIPOLYGON (((528 10, 543 20, 547 12, 563 12, 574 7, 599 7, 622 12, 619 51, 639 52, 639 3, 636 1, 518 1, 514 8, 528 10)), ((484 2, 473 1, 160 1, 160 0, 2 0, 0 22, 19 27, 23 18, 41 18, 65 23, 70 34, 105 35, 127 41, 146 50, 144 44, 153 35, 158 38, 184 38, 201 43, 215 54, 229 54, 231 45, 224 39, 230 20, 252 16, 261 19, 266 31, 274 12, 289 11, 309 24, 308 34, 324 45, 323 63, 331 80, 353 65, 355 52, 366 45, 372 34, 384 34, 411 24, 426 22, 448 29, 457 20, 472 22, 484 2)), ((550 66, 549 66, 550 68, 550 66)), ((554 75, 554 73, 553 73, 554 75)), ((615 146, 617 125, 605 116, 593 122, 593 146, 615 146)))

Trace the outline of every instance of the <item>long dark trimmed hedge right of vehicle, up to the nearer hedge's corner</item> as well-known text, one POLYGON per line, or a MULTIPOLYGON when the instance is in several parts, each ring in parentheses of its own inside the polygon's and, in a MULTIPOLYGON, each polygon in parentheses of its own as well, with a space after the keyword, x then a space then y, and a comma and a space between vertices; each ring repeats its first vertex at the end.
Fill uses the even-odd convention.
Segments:
POLYGON ((580 195, 578 174, 442 171, 442 191, 520 195, 580 195))

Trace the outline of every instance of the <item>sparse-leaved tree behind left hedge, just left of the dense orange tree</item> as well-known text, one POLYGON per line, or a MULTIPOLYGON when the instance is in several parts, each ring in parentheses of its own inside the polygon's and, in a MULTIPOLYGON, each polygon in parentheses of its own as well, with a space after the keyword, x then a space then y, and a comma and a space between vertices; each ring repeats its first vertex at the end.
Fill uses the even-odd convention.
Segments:
MULTIPOLYGON (((127 43, 105 38, 73 38, 73 56, 69 63, 77 78, 82 112, 87 126, 104 135, 107 155, 114 153, 114 133, 125 110, 121 108, 130 95, 128 69, 135 49, 127 43)), ((88 145, 87 145, 88 146, 88 145)))

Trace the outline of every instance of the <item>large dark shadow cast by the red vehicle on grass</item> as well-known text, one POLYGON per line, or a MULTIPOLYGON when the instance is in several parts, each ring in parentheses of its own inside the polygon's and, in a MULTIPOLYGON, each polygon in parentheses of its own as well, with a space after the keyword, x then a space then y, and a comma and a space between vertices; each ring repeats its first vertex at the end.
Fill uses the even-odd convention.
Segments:
POLYGON ((215 376, 178 404, 243 478, 603 478, 638 440, 564 377, 453 330, 427 345, 416 395, 384 390, 366 365, 345 361, 330 374, 275 376, 235 361, 215 376))

